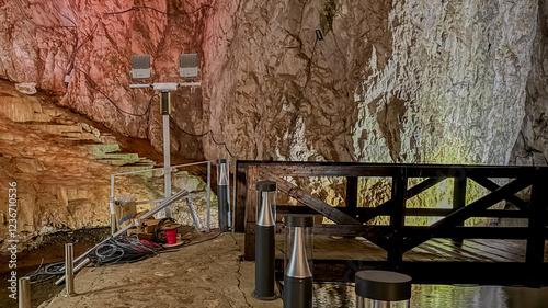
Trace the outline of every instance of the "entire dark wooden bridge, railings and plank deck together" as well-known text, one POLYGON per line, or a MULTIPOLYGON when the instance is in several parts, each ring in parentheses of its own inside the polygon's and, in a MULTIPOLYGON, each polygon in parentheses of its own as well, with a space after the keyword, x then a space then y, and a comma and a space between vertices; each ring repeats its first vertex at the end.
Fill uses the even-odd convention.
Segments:
MULTIPOLYGON (((254 260, 255 185, 270 180, 281 194, 298 202, 297 206, 278 204, 278 214, 316 214, 335 223, 315 226, 316 281, 353 281, 356 271, 385 269, 407 273, 415 283, 548 286, 548 167, 238 161, 236 168, 233 228, 244 232, 247 260, 254 260), (327 204, 287 181, 288 176, 346 178, 345 206, 327 204), (376 207, 361 206, 359 178, 390 179, 391 198, 376 207), (407 206, 409 199, 446 179, 454 183, 452 208, 407 206), (489 193, 467 202, 470 181, 489 193), (520 192, 522 197, 516 195, 520 192), (505 202, 505 208, 493 209, 500 202, 505 202), (370 225, 379 216, 388 216, 389 224, 370 225), (408 226, 406 218, 411 216, 443 218, 430 226, 408 226), (472 217, 526 224, 464 226, 472 217)), ((282 230, 283 223, 277 227, 282 230)), ((282 277, 284 244, 278 237, 276 267, 282 277)))

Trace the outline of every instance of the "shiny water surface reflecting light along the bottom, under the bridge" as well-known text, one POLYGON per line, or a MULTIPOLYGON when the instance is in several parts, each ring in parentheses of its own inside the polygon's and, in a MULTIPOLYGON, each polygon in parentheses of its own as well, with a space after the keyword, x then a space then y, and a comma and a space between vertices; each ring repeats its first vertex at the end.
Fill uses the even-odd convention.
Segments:
MULTIPOLYGON (((313 307, 355 307, 354 284, 315 284, 313 307)), ((548 288, 413 285, 412 308, 547 308, 548 288)))

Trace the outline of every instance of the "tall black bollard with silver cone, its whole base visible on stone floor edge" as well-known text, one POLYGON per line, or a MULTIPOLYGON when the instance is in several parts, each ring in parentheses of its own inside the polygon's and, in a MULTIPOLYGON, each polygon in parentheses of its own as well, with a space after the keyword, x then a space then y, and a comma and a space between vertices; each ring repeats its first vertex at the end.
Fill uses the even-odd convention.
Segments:
POLYGON ((276 232, 276 183, 256 183, 258 217, 255 227, 255 290, 261 300, 276 299, 274 290, 274 256, 276 232))

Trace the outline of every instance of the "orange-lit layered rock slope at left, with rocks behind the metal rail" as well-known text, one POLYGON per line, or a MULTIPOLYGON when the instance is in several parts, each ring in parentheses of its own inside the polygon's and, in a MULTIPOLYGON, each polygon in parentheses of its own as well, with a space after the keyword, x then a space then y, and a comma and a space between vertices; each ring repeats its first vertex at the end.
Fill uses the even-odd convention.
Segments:
MULTIPOLYGON (((155 166, 137 153, 121 151, 119 136, 95 128, 91 121, 55 105, 55 96, 32 89, 0 81, 0 248, 10 244, 10 215, 16 214, 21 248, 39 244, 45 233, 109 226, 110 174, 155 166), (12 182, 18 198, 10 209, 12 182)), ((205 191, 204 181, 189 170, 174 172, 172 180, 173 192, 205 191)), ((161 169, 117 176, 115 183, 115 195, 135 194, 138 201, 163 196, 161 169)), ((195 207, 204 224, 206 198, 196 199, 195 207)), ((186 204, 176 204, 174 212, 182 224, 193 224, 186 204)), ((213 217, 215 221, 217 216, 213 217)))

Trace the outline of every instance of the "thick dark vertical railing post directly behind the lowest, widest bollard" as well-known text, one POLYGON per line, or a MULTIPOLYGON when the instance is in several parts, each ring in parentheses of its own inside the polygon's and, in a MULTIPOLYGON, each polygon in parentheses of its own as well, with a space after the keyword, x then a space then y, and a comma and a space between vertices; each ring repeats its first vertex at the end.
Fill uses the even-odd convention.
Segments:
POLYGON ((408 191, 408 174, 404 167, 398 168, 397 174, 392 176, 392 209, 390 215, 390 226, 393 233, 389 239, 388 264, 392 271, 401 269, 403 259, 403 246, 401 229, 406 225, 406 201, 408 191))

